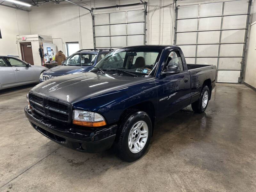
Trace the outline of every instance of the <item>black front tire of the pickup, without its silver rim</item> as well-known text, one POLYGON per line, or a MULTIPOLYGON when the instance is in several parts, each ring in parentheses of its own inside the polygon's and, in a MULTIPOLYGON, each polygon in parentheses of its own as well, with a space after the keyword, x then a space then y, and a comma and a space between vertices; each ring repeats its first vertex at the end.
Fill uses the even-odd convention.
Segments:
POLYGON ((152 123, 150 117, 144 111, 133 111, 128 114, 121 122, 117 132, 116 149, 118 156, 128 162, 133 162, 139 159, 148 148, 149 141, 152 135, 152 123), (148 137, 146 143, 137 153, 132 153, 128 146, 128 137, 132 126, 139 121, 143 121, 148 126, 148 137))

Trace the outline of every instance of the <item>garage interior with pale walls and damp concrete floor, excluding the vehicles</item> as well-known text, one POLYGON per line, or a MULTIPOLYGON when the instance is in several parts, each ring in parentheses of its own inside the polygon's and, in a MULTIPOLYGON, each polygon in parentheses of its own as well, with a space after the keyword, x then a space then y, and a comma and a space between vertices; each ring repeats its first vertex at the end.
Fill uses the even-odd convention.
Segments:
POLYGON ((215 65, 217 83, 204 113, 188 106, 156 124, 146 154, 132 163, 36 132, 24 115, 35 84, 1 90, 0 191, 256 191, 255 0, 22 2, 31 6, 0 0, 0 55, 42 66, 42 44, 66 56, 178 45, 187 63, 215 65))

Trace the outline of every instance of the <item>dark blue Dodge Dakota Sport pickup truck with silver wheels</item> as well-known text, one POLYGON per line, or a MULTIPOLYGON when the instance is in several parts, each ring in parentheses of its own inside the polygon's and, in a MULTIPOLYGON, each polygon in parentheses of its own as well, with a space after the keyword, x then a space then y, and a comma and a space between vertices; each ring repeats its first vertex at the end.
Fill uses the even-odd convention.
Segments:
POLYGON ((60 76, 33 87, 25 114, 49 139, 84 152, 113 146, 125 161, 148 148, 157 121, 189 104, 205 111, 216 66, 186 64, 178 46, 116 49, 90 72, 60 76))

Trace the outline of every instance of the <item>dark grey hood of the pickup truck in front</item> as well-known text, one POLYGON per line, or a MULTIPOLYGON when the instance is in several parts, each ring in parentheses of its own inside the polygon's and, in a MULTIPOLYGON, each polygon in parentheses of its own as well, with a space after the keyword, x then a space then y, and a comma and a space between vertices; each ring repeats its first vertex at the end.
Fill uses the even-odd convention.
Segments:
POLYGON ((116 76, 100 73, 76 73, 44 81, 31 91, 73 104, 106 92, 152 80, 146 77, 116 76))

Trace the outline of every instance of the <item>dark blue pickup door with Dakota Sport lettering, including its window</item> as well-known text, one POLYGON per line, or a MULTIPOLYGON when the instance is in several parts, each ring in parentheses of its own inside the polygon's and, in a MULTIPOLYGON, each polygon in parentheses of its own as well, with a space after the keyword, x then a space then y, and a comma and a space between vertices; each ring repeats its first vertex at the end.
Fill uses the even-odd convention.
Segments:
POLYGON ((167 65, 179 66, 180 72, 160 75, 156 79, 159 117, 169 116, 188 106, 190 102, 189 72, 184 68, 178 49, 168 52, 163 70, 167 65))

